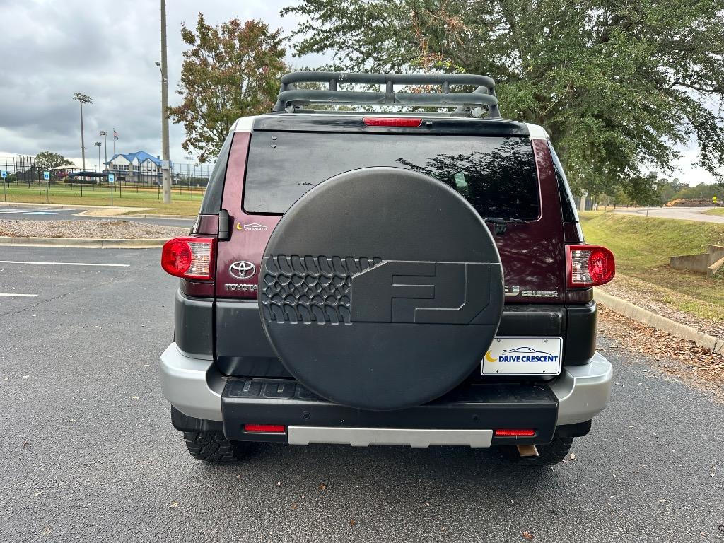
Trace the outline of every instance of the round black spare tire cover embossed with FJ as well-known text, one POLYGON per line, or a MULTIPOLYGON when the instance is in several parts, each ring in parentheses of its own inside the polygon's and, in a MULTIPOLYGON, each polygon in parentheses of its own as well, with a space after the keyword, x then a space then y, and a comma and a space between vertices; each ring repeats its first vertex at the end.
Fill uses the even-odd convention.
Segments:
POLYGON ((407 169, 317 185, 277 224, 261 322, 288 371, 355 408, 420 405, 481 364, 500 324, 500 255, 455 190, 407 169))

